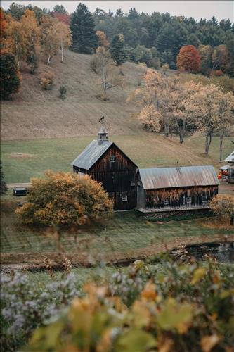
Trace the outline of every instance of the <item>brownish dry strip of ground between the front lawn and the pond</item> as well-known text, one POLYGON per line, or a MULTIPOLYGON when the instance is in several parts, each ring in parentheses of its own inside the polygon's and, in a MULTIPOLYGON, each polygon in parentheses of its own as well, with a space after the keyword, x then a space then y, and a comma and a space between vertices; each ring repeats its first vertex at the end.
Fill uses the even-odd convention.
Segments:
POLYGON ((175 237, 171 241, 161 242, 153 246, 148 246, 143 249, 136 249, 129 253, 101 253, 100 255, 91 258, 91 253, 2 253, 1 254, 1 271, 10 270, 46 270, 44 263, 45 258, 51 260, 51 266, 54 269, 63 270, 64 257, 69 259, 74 266, 91 267, 96 263, 102 261, 106 264, 128 264, 134 262, 134 260, 141 260, 148 258, 149 256, 155 256, 159 253, 164 253, 176 249, 178 246, 188 246, 191 244, 201 244, 210 242, 224 242, 234 241, 234 234, 229 235, 228 238, 223 235, 207 236, 191 236, 191 237, 175 237))

